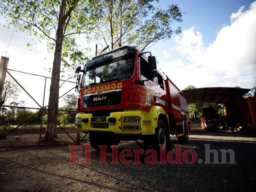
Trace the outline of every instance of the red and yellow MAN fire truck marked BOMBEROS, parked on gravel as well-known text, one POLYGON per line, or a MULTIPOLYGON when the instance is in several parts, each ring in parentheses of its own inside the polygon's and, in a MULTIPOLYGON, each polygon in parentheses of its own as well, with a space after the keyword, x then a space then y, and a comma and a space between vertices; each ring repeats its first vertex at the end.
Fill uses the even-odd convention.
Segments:
POLYGON ((117 145, 120 140, 167 148, 169 134, 188 141, 185 95, 157 70, 150 52, 120 47, 94 57, 78 67, 79 72, 75 126, 89 133, 93 148, 117 145))

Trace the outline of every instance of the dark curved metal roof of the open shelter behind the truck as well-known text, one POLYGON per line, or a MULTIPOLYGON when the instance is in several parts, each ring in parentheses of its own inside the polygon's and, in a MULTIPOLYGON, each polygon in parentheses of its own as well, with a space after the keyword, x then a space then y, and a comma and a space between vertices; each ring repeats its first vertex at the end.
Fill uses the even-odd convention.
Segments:
POLYGON ((237 96, 242 96, 250 89, 236 87, 204 87, 182 90, 186 95, 188 104, 212 103, 226 104, 233 101, 237 96))

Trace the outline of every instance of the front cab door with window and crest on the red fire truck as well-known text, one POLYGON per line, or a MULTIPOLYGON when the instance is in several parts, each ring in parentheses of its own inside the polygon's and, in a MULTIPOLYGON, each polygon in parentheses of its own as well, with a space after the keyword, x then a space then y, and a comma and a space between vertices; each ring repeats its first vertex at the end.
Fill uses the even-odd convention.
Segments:
MULTIPOLYGON (((142 56, 140 57, 140 79, 150 79, 150 67, 148 61, 142 56)), ((147 111, 150 110, 152 105, 155 105, 154 97, 156 96, 157 78, 152 81, 144 81, 144 85, 141 86, 140 103, 145 106, 147 111)))

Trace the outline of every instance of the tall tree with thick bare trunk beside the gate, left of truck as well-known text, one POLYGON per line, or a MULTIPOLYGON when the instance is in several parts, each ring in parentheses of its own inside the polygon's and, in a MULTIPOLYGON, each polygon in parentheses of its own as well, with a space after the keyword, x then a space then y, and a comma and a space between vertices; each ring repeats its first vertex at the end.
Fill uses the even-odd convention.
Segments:
MULTIPOLYGON (((76 34, 88 33, 94 28, 93 14, 88 12, 86 0, 1 0, 0 12, 11 19, 10 24, 21 31, 29 31, 38 40, 47 40, 54 51, 52 80, 49 90, 48 113, 55 120, 58 112, 59 78, 63 67, 83 60, 83 52, 75 41, 76 34), (84 29, 84 30, 81 30, 84 29)), ((57 136, 56 125, 48 117, 45 141, 57 136)))

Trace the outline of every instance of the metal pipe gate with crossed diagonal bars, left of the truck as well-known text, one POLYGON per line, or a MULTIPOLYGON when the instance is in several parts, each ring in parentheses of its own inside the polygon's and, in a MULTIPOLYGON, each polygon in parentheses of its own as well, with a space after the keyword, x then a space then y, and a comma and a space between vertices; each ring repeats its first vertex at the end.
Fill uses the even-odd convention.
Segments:
MULTIPOLYGON (((12 70, 12 69, 6 69, 6 73, 19 85, 19 87, 35 102, 35 104, 38 106, 36 108, 32 108, 32 107, 24 107, 24 106, 15 106, 15 105, 3 105, 3 108, 17 108, 17 109, 33 109, 33 110, 38 110, 37 112, 35 112, 34 114, 32 114, 31 116, 27 117, 26 119, 24 119, 22 122, 19 123, 19 125, 15 125, 14 128, 8 128, 8 131, 6 131, 5 133, 3 133, 2 135, 0 135, 0 140, 3 140, 6 138, 6 136, 8 136, 9 134, 12 134, 15 130, 17 130, 18 128, 20 128, 22 125, 26 125, 27 122, 31 121, 31 119, 35 119, 35 118, 40 118, 40 124, 39 124, 39 128, 40 131, 38 133, 38 131, 34 131, 36 134, 39 134, 39 138, 38 138, 38 142, 31 142, 29 143, 28 141, 26 141, 26 144, 29 145, 20 145, 20 142, 14 142, 14 140, 12 140, 11 145, 8 145, 8 142, 3 142, 6 143, 5 146, 0 146, 0 148, 6 148, 6 147, 19 147, 19 146, 41 146, 41 145, 45 145, 42 143, 42 135, 43 135, 43 117, 44 115, 47 115, 48 118, 52 119, 53 122, 55 122, 55 124, 58 126, 58 128, 60 128, 66 135, 66 137, 68 137, 70 140, 73 141, 73 143, 75 144, 79 144, 79 139, 80 139, 80 134, 78 133, 78 131, 75 131, 75 128, 72 127, 72 130, 67 130, 67 128, 62 127, 60 125, 60 123, 58 121, 56 121, 56 119, 54 117, 52 117, 51 115, 49 115, 49 111, 60 111, 60 112, 69 112, 69 113, 76 113, 76 111, 70 111, 70 110, 53 110, 53 109, 48 109, 49 104, 52 104, 54 102, 58 102, 60 98, 62 98, 63 96, 65 96, 67 93, 69 93, 71 90, 75 89, 76 86, 72 87, 70 90, 67 90, 64 94, 62 94, 61 96, 58 97, 58 99, 55 99, 53 101, 50 101, 48 105, 44 104, 44 100, 45 100, 45 93, 46 93, 46 82, 47 79, 54 79, 48 76, 42 76, 42 75, 38 75, 38 74, 33 74, 33 73, 26 73, 23 71, 18 71, 18 70, 12 70), (44 78, 44 91, 43 91, 43 101, 42 101, 42 105, 39 104, 39 102, 24 88, 24 86, 22 86, 20 84, 20 82, 15 79, 15 77, 10 73, 10 72, 17 72, 17 73, 23 73, 29 76, 37 76, 37 77, 41 77, 44 78), (74 135, 72 133, 76 133, 76 137, 74 138, 74 135), (72 135, 71 135, 72 134, 72 135), (15 143, 18 143, 18 145, 15 145, 15 143), (31 145, 32 144, 32 145, 31 145)), ((70 82, 73 84, 76 84, 76 82, 74 81, 68 81, 68 80, 64 80, 64 79, 55 79, 55 80, 59 80, 59 81, 63 81, 63 83, 61 85, 63 85, 65 82, 70 82)), ((61 87, 61 86, 60 86, 61 87)), ((58 129, 59 130, 59 129, 58 129)), ((59 132, 59 131, 58 131, 59 132)), ((29 129, 23 129, 23 133, 29 133, 29 129)), ((17 138, 17 137, 16 137, 17 138)), ((18 139, 20 140, 20 139, 18 139)), ((35 138, 33 138, 33 141, 35 141, 35 138)), ((59 144, 71 144, 67 142, 67 138, 63 137, 63 138, 58 138, 57 140, 58 142, 55 143, 55 145, 59 145, 59 144), (63 140, 62 140, 63 139, 63 140)))

